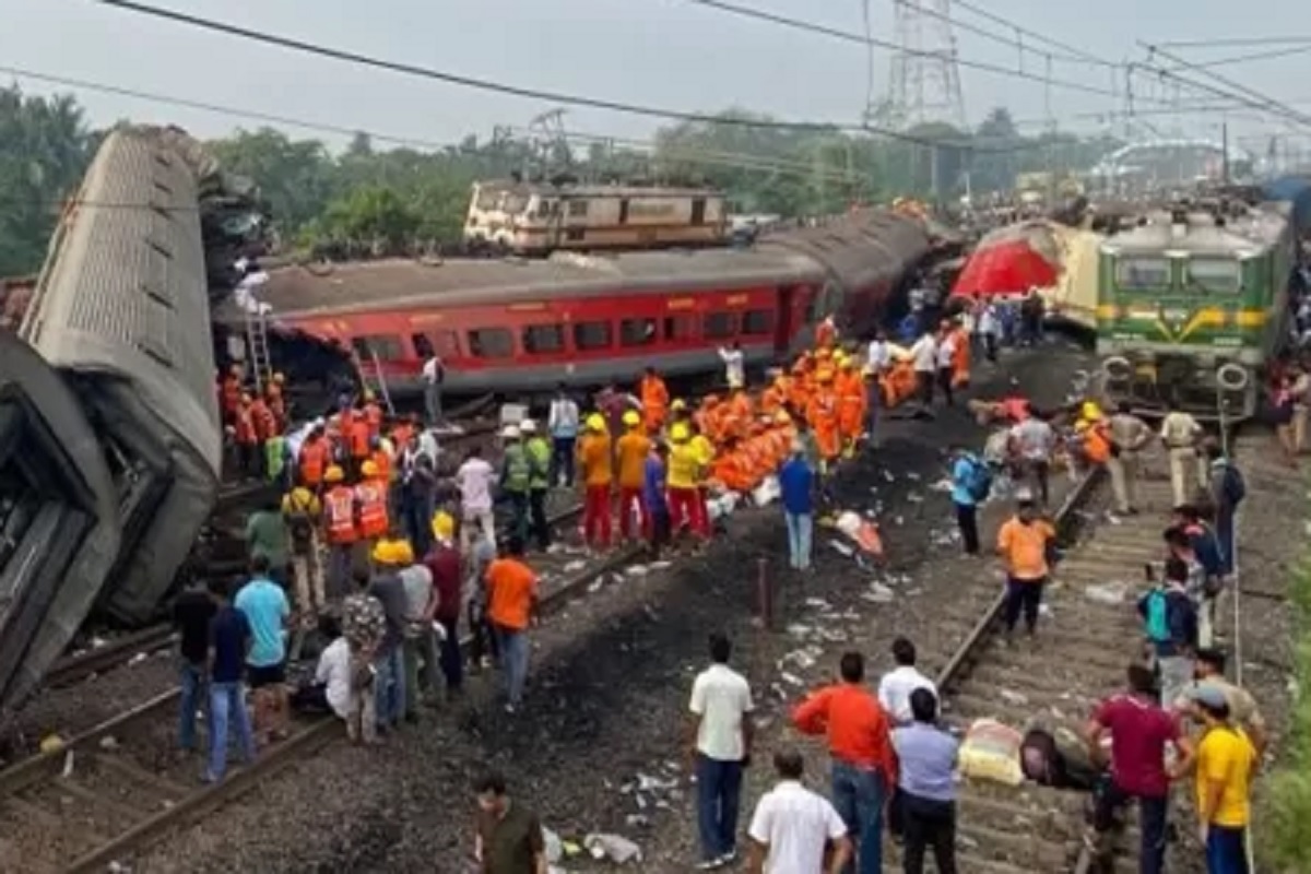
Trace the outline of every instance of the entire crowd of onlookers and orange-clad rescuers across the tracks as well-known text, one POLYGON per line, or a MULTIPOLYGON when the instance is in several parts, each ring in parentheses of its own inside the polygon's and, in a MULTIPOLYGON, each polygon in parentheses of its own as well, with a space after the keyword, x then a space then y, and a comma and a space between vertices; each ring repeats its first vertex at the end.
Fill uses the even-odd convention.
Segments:
MULTIPOLYGON (((721 350, 728 390, 695 404, 671 397, 654 370, 632 394, 603 390, 586 413, 561 387, 540 425, 520 418, 503 426, 496 459, 469 447, 448 484, 438 476, 438 439, 417 417, 388 417, 366 392, 287 434, 282 380, 274 377, 252 397, 241 389, 240 370, 233 371, 220 398, 240 466, 283 482, 286 491, 250 516, 249 582, 236 591, 215 582, 177 601, 182 746, 195 743, 202 698, 210 729, 206 780, 223 778, 229 723, 252 757, 260 743, 286 732, 291 706, 330 712, 353 739, 376 743, 420 719, 425 704, 459 694, 464 672, 493 660, 505 672, 505 708, 513 713, 524 692, 527 634, 540 596, 526 552, 530 544, 552 546, 552 490, 581 489, 590 550, 645 541, 658 554, 684 540, 704 548, 714 532, 716 495, 747 494, 776 477, 791 566, 809 571, 813 516, 834 464, 863 442, 877 444, 884 410, 903 402, 928 408, 939 397, 954 404, 954 390, 969 383, 971 355, 995 355, 1004 338, 1002 316, 990 307, 977 304, 941 321, 920 313, 909 349, 882 333, 859 352, 843 349, 831 324, 823 324, 815 349, 770 371, 755 392, 746 384, 741 350, 728 347, 721 350), (499 532, 498 504, 510 518, 499 532), (467 654, 459 645, 461 622, 473 641, 467 654), (298 624, 317 626, 326 645, 313 676, 288 696, 286 632, 298 624), (254 691, 253 721, 241 701, 243 680, 254 691)), ((1223 681, 1214 622, 1215 601, 1232 574, 1242 474, 1183 413, 1152 430, 1092 401, 1047 411, 1007 397, 970 401, 970 410, 1004 427, 983 453, 958 447, 953 456, 950 494, 968 554, 982 552, 977 512, 994 480, 1006 473, 1021 484, 1016 512, 995 544, 1007 571, 1008 641, 1021 618, 1030 636, 1037 633, 1057 554, 1055 532, 1042 515, 1053 465, 1106 466, 1116 510, 1137 514, 1141 453, 1156 439, 1164 443, 1176 508, 1164 532, 1162 579, 1139 603, 1151 658, 1135 662, 1130 691, 1099 708, 1089 726, 1095 765, 1103 761, 1103 735, 1112 735, 1109 768, 1095 781, 1095 827, 1106 831, 1125 799, 1137 798, 1143 870, 1160 870, 1152 861, 1164 848, 1163 807, 1158 816, 1154 806, 1160 774, 1143 753, 1145 738, 1160 738, 1179 751, 1167 776, 1196 765, 1197 810, 1217 860, 1211 870, 1245 870, 1236 867, 1234 846, 1245 827, 1248 784, 1235 774, 1251 773, 1264 735, 1251 698, 1223 681), (1197 684, 1193 674, 1205 681, 1197 684), (1184 715, 1203 726, 1200 743, 1186 740, 1184 715), (1165 730, 1167 722, 1173 727, 1165 730), (1219 739, 1207 740, 1213 735, 1219 739), (1134 768, 1143 773, 1133 776, 1134 768)), ((728 667, 730 653, 726 638, 712 638, 712 666, 697 677, 691 701, 705 870, 737 858, 742 768, 753 743, 751 691, 728 667)), ((753 870, 823 870, 827 858, 830 870, 877 871, 885 824, 903 843, 907 871, 922 870, 928 852, 940 871, 956 870, 957 742, 936 725, 937 693, 915 668, 914 645, 899 638, 893 655, 897 667, 877 694, 865 683, 861 654, 848 653, 839 664, 842 680, 792 714, 800 731, 829 740, 832 801, 802 788, 797 751, 779 752, 779 784, 747 829, 753 870)), ((1164 753, 1160 761, 1164 769, 1164 753)), ((1058 764, 1047 761, 1047 772, 1058 764)), ((484 819, 503 812, 503 780, 488 777, 480 799, 484 819)), ((499 820, 488 822, 484 837, 490 840, 499 820)), ((534 822, 515 823, 531 857, 540 833, 530 840, 534 822)))

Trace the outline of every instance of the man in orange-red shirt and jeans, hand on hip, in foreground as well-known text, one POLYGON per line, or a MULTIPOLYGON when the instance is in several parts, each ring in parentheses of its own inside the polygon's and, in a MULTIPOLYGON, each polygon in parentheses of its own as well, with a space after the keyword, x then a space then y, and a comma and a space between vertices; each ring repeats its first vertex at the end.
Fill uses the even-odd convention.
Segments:
POLYGON ((832 802, 856 841, 859 874, 882 870, 884 802, 897 785, 891 721, 865 687, 865 658, 844 653, 842 683, 825 687, 792 713, 798 731, 827 735, 832 802))

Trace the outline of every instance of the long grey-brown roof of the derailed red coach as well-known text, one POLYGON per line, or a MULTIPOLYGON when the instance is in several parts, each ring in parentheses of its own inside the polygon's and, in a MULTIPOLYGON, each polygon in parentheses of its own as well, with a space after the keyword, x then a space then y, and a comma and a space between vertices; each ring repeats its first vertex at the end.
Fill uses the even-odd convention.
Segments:
MULTIPOLYGON (((650 291, 746 288, 762 283, 818 283, 819 265, 791 252, 700 252, 578 256, 549 259, 389 259, 298 265, 275 270, 257 296, 274 317, 316 316, 440 303, 447 307, 535 301, 556 294, 600 296, 650 291)), ((232 301, 220 321, 241 317, 232 301)))

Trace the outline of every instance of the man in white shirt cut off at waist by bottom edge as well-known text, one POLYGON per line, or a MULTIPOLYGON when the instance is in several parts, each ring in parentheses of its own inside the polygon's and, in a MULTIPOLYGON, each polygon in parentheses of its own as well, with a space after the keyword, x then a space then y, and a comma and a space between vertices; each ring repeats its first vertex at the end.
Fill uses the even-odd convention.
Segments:
POLYGON ((779 782, 760 797, 751 816, 749 874, 821 874, 832 843, 829 873, 851 861, 851 839, 842 816, 823 795, 801 785, 805 761, 796 750, 773 753, 779 782))

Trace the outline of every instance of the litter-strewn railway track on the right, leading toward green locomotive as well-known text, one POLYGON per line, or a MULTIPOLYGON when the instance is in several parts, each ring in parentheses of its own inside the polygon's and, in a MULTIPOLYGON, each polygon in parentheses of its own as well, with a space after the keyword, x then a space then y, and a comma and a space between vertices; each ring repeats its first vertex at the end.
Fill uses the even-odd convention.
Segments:
MULTIPOLYGON (((954 647, 939 643, 939 651, 923 653, 920 662, 936 676, 943 721, 957 734, 964 735, 975 719, 992 718, 1021 731, 1041 725, 1058 738, 1082 742, 1096 704, 1124 688, 1126 666, 1142 653, 1142 624, 1134 607, 1143 591, 1143 565, 1162 556, 1160 532, 1172 495, 1168 478, 1142 480, 1142 515, 1126 520, 1105 514, 1109 490, 1104 474, 1086 477, 1055 514, 1066 550, 1032 645, 1023 636, 1013 646, 1002 639, 999 574, 995 584, 962 586, 960 599, 943 607, 937 639, 958 642, 954 647)), ((1222 622, 1219 628, 1228 626, 1222 622)), ((1083 840, 1086 798, 1032 782, 1012 789, 965 781, 958 801, 960 870, 1095 870, 1083 840)), ((1137 846, 1137 826, 1121 839, 1117 869, 1131 870, 1135 861, 1127 848, 1137 846)))

